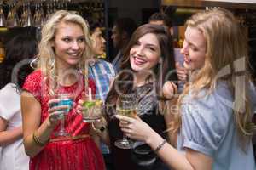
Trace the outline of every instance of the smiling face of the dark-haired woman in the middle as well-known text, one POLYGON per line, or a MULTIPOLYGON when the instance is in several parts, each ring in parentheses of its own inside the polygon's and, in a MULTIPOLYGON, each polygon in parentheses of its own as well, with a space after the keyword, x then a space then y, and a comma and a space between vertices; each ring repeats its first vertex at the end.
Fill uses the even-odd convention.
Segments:
POLYGON ((138 38, 130 50, 131 69, 133 71, 152 70, 160 59, 160 44, 157 37, 148 33, 138 38))

